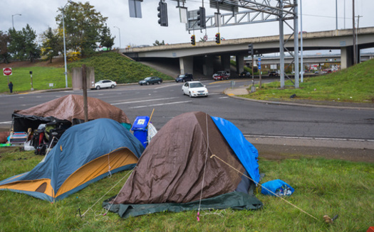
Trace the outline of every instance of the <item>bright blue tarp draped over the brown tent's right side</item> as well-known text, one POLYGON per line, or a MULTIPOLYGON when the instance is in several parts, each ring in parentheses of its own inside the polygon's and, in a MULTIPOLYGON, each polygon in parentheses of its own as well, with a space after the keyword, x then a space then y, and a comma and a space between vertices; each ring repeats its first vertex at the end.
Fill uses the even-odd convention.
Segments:
POLYGON ((224 118, 212 117, 212 119, 227 140, 227 143, 234 150, 241 164, 245 167, 246 172, 249 173, 255 184, 258 184, 260 173, 258 163, 259 152, 257 149, 246 140, 243 133, 233 123, 224 118))

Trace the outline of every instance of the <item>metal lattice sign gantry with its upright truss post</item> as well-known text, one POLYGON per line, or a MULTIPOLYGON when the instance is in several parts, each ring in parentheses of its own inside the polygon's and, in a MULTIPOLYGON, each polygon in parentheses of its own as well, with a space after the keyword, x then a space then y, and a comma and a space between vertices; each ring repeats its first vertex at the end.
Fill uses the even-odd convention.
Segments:
MULTIPOLYGON (((174 0, 178 4, 186 3, 186 0, 174 0)), ((298 88, 298 3, 297 0, 209 0, 209 7, 217 9, 214 16, 206 16, 206 28, 216 28, 220 26, 237 26, 250 23, 266 23, 279 21, 279 53, 280 53, 280 76, 281 88, 285 87, 285 77, 290 79, 295 88, 298 88), (239 11, 244 9, 245 11, 239 11), (231 11, 230 13, 220 13, 219 11, 231 11), (294 23, 289 23, 294 21, 294 23), (284 38, 284 25, 289 26, 292 33, 284 38), (286 43, 294 39, 294 50, 286 48, 286 43), (295 79, 292 79, 284 72, 285 51, 294 57, 290 65, 295 65, 295 79)), ((186 30, 201 30, 197 26, 197 18, 194 13, 190 14, 186 23, 186 30)))

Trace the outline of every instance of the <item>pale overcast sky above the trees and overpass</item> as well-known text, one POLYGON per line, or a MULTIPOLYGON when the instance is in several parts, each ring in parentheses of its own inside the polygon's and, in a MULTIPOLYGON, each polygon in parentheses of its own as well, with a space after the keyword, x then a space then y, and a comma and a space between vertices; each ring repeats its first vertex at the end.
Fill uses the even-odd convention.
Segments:
MULTIPOLYGON (((158 0, 144 0, 142 2, 142 18, 130 18, 128 0, 89 1, 96 11, 99 11, 104 17, 108 17, 107 24, 112 35, 115 36, 115 47, 120 46, 120 40, 123 48, 127 45, 152 45, 155 40, 165 40, 165 43, 189 43, 190 34, 185 30, 185 23, 180 23, 179 11, 175 8, 177 2, 171 0, 165 2, 167 2, 169 18, 168 27, 159 26, 157 23, 158 0)), ((17 31, 26 27, 27 23, 38 35, 46 31, 48 27, 57 28, 55 18, 58 14, 58 7, 65 6, 66 3, 66 0, 1 0, 0 30, 8 31, 12 27, 12 18, 14 28, 17 31), (19 13, 21 16, 16 15, 19 13)), ((300 6, 300 0, 298 4, 300 6)), ((352 28, 352 5, 352 0, 338 0, 339 29, 352 28), (346 10, 344 11, 344 9, 346 10)), ((189 11, 196 10, 199 6, 202 6, 202 0, 187 0, 185 6, 189 11)), ((207 16, 214 14, 214 9, 209 9, 209 0, 204 0, 204 6, 207 9, 207 16)), ((336 0, 303 0, 301 6, 303 31, 336 29, 336 0)), ((373 9, 374 0, 355 0, 355 16, 360 16, 360 28, 374 26, 373 9)), ((300 10, 298 12, 298 31, 300 31, 300 10)), ((227 11, 221 11, 221 13, 227 13, 227 11)), ((290 21, 290 23, 292 22, 290 21)), ((213 39, 217 32, 217 28, 209 28, 202 33, 194 31, 194 34, 197 40, 202 38, 205 33, 207 33, 208 38, 213 39)), ((255 23, 221 27, 219 32, 226 39, 279 35, 279 23, 255 23)), ((288 33, 289 30, 285 32, 288 33)))

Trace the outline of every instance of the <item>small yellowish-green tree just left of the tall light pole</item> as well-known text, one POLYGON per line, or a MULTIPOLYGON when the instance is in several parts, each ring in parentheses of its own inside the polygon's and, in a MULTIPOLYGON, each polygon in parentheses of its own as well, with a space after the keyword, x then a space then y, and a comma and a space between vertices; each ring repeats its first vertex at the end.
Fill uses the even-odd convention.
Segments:
POLYGON ((51 27, 41 35, 42 39, 42 55, 46 55, 50 62, 52 58, 57 56, 59 52, 63 51, 63 38, 58 33, 58 30, 52 30, 51 27))

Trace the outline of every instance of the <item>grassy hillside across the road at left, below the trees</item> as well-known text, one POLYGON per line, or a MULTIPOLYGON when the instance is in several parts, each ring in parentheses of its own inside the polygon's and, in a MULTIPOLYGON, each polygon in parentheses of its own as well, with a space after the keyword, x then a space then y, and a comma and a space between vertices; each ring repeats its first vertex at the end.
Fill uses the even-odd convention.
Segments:
MULTIPOLYGON (((128 59, 118 53, 102 53, 94 57, 88 57, 68 64, 68 70, 72 67, 94 67, 95 80, 112 79, 118 84, 138 82, 140 79, 150 76, 158 76, 162 79, 173 79, 166 74, 158 72, 146 65, 128 59)), ((53 83, 53 89, 65 88, 65 74, 63 63, 53 62, 51 65, 48 61, 44 62, 11 62, 8 65, 1 64, 1 67, 12 67, 13 74, 9 76, 9 81, 14 84, 14 92, 26 92, 31 90, 49 89, 49 83, 53 83)), ((68 72, 68 87, 71 87, 71 74, 68 72)), ((0 93, 9 93, 8 77, 0 78, 0 93)))

